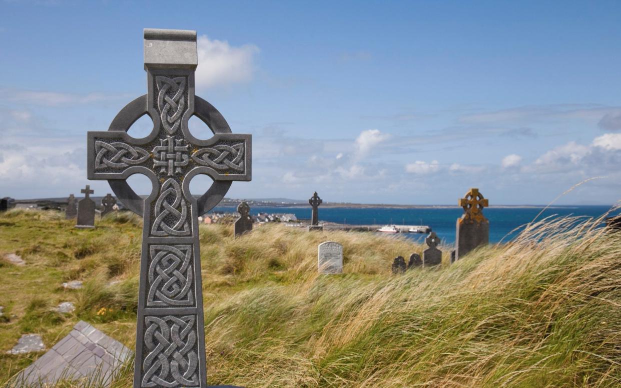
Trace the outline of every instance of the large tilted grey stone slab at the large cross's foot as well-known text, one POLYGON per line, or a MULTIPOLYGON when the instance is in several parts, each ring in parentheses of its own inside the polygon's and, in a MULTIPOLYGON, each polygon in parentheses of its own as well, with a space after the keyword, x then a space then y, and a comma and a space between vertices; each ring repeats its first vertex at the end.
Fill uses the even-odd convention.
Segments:
POLYGON ((110 385, 132 351, 84 321, 50 351, 14 377, 16 387, 53 386, 60 379, 88 381, 89 378, 110 385))

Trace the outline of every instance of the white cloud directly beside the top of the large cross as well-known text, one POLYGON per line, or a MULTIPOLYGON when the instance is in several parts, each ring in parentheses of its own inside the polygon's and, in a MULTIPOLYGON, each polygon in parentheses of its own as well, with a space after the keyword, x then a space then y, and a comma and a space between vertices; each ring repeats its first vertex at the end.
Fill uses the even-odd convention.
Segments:
POLYGON ((228 85, 250 81, 255 73, 255 55, 259 48, 252 44, 239 47, 225 40, 211 40, 206 35, 197 38, 198 67, 196 87, 228 85))

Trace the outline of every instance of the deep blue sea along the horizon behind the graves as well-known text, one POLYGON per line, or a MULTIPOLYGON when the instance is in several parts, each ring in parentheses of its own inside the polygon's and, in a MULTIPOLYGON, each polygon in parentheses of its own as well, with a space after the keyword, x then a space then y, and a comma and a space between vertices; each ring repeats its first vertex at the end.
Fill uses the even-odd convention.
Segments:
MULTIPOLYGON (((600 217, 610 210, 610 206, 553 206, 542 210, 544 207, 492 207, 484 210, 489 219, 489 241, 507 241, 515 233, 510 234, 515 228, 519 228, 531 222, 535 217, 542 219, 551 215, 563 217, 566 215, 585 215, 587 217, 600 217)), ((235 212, 234 207, 218 206, 214 210, 223 212, 235 212)), ((311 207, 253 207, 250 214, 263 213, 292 213, 299 219, 311 218, 311 207)), ((618 214, 619 212, 615 212, 618 214)), ((463 214, 461 207, 455 208, 424 208, 424 209, 386 209, 366 208, 352 209, 348 207, 319 207, 319 220, 337 223, 349 223, 353 225, 427 225, 442 239, 442 243, 455 243, 455 222, 463 214)), ((423 240, 425 235, 419 233, 402 233, 407 238, 423 240)))

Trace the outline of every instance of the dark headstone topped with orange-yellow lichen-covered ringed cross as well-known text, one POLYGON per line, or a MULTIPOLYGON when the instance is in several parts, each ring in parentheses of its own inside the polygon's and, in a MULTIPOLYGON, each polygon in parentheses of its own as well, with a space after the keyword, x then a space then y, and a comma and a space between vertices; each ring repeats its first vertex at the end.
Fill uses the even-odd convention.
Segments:
POLYGON ((463 258, 469 251, 489 243, 489 220, 483 215, 483 208, 489 206, 479 189, 470 189, 460 199, 464 214, 457 219, 455 233, 455 260, 463 258))

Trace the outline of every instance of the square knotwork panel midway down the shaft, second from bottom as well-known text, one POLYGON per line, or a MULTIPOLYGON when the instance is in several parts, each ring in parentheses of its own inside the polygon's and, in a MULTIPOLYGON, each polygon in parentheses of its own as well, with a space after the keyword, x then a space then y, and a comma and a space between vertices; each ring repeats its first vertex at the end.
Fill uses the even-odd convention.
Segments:
POLYGON ((150 246, 149 289, 150 307, 194 305, 194 272, 191 245, 150 246))

